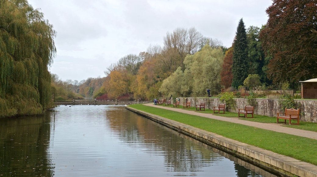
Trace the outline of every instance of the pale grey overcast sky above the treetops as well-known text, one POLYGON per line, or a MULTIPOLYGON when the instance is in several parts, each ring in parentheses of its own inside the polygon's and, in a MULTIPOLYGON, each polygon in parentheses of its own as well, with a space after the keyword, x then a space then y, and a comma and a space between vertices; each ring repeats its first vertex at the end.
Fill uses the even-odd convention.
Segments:
POLYGON ((230 47, 238 22, 268 20, 272 0, 29 0, 57 32, 50 72, 63 81, 104 77, 111 63, 138 55, 178 27, 195 27, 230 47))

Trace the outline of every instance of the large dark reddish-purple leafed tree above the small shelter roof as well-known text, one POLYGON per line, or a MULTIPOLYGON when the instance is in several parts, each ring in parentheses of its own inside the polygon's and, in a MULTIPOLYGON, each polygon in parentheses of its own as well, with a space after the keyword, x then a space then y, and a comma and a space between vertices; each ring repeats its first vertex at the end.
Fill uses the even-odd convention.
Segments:
POLYGON ((273 0, 260 38, 268 77, 293 82, 317 77, 317 0, 273 0))

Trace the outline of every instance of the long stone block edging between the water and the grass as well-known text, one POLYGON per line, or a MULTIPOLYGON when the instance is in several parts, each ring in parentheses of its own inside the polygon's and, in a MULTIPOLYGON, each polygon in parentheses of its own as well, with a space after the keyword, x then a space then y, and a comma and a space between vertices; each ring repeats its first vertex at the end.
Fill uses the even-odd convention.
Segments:
POLYGON ((277 154, 262 148, 245 144, 230 138, 223 137, 199 128, 195 128, 177 121, 173 121, 158 115, 150 114, 138 109, 126 106, 126 109, 145 116, 168 128, 190 136, 209 146, 220 149, 228 154, 237 156, 267 171, 283 176, 317 177, 317 166, 300 161, 285 155, 277 154))

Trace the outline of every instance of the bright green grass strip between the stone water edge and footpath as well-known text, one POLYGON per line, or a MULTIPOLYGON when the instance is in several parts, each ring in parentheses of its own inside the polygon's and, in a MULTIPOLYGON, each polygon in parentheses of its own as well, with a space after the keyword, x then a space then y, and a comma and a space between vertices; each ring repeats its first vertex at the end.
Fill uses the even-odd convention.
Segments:
MULTIPOLYGON (((201 116, 188 115, 172 110, 161 109, 159 107, 144 106, 142 104, 133 104, 130 105, 130 107, 317 165, 317 140, 314 139, 214 120, 201 116)), ((183 108, 182 105, 180 107, 183 108)), ((191 109, 195 110, 195 108, 191 109)), ((205 112, 207 113, 207 110, 205 112)), ((212 113, 212 111, 210 112, 212 113)))

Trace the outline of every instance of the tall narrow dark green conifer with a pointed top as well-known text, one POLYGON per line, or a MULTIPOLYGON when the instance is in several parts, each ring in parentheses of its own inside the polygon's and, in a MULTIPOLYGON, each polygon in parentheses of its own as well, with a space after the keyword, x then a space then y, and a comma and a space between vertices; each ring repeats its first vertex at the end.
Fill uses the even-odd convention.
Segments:
POLYGON ((236 38, 233 42, 232 87, 237 89, 248 77, 249 58, 247 33, 242 18, 239 21, 236 38))

